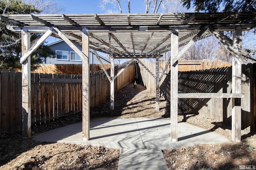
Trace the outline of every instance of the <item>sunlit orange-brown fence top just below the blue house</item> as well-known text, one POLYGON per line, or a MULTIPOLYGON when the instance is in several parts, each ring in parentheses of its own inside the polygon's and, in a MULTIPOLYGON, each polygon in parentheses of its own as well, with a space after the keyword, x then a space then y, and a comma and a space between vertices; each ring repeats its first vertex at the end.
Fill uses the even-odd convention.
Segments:
MULTIPOLYGON (((103 64, 105 68, 110 68, 110 64, 103 64)), ((90 64, 90 71, 103 70, 100 64, 90 64)), ((21 71, 21 70, 16 70, 21 71)), ((82 64, 39 64, 34 73, 48 74, 82 74, 82 64)))

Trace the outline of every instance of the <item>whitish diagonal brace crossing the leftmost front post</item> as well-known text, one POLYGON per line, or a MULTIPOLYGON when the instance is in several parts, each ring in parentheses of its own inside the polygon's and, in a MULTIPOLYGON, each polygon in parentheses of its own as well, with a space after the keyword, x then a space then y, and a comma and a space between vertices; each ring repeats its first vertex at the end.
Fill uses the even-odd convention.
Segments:
POLYGON ((46 33, 44 33, 44 35, 42 35, 42 37, 40 37, 40 39, 38 39, 38 41, 28 51, 26 51, 26 53, 22 55, 22 57, 20 57, 20 63, 23 63, 24 61, 26 61, 26 59, 32 53, 34 53, 34 51, 36 51, 36 49, 38 49, 38 47, 42 45, 42 43, 44 43, 44 41, 52 34, 52 31, 53 31, 53 27, 48 29, 48 31, 46 31, 46 33))

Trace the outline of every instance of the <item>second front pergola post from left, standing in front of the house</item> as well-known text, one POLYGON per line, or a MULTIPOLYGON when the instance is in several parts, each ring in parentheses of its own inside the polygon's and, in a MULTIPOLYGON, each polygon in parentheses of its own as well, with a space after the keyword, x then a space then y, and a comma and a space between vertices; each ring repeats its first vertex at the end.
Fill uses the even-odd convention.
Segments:
POLYGON ((87 56, 82 59, 82 140, 90 139, 90 64, 89 64, 89 32, 82 31, 82 52, 87 56))

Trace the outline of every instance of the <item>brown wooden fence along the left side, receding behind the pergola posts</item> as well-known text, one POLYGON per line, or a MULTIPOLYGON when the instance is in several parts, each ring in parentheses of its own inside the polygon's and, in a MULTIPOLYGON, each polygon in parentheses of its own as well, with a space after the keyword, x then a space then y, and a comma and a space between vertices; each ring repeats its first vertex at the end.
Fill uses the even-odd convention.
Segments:
MULTIPOLYGON (((126 63, 115 66, 115 74, 126 63)), ((110 69, 107 69, 110 72, 110 69)), ((0 70, 0 134, 22 130, 22 74, 0 70)), ((115 92, 134 81, 135 64, 115 80, 115 92)), ((32 125, 82 111, 82 75, 31 73, 32 125)), ((90 71, 90 108, 110 100, 110 82, 100 70, 90 71)))

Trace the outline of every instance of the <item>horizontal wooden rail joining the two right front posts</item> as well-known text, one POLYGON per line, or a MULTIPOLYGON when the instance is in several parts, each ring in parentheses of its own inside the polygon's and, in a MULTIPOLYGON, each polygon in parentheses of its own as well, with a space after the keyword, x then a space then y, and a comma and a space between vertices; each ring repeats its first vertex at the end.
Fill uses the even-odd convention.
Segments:
POLYGON ((234 93, 179 93, 178 98, 243 98, 244 94, 234 93))

